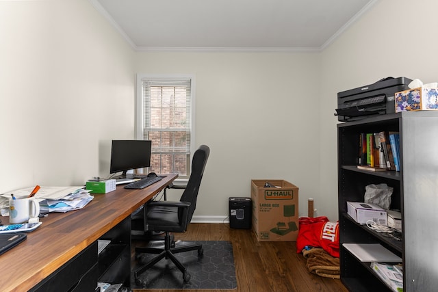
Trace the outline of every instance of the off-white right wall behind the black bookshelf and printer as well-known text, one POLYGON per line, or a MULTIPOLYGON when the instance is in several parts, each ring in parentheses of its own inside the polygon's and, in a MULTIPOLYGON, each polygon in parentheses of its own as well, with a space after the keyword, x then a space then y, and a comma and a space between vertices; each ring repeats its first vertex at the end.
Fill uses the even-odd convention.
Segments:
POLYGON ((327 194, 330 210, 337 207, 337 92, 384 77, 438 81, 437 11, 433 0, 378 1, 322 53, 320 196, 327 194))

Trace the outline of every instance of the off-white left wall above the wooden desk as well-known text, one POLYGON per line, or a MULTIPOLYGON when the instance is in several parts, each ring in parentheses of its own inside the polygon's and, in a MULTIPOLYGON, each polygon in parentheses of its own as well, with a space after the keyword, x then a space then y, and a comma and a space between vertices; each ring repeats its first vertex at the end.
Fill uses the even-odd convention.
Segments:
POLYGON ((0 193, 83 185, 133 137, 132 49, 87 0, 0 1, 0 36, 0 193))

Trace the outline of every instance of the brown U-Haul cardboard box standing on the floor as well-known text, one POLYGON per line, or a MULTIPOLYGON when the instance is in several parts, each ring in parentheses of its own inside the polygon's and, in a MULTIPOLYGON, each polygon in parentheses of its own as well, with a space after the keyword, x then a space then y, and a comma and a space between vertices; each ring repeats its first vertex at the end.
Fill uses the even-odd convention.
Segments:
POLYGON ((257 241, 296 241, 298 187, 283 180, 252 180, 253 230, 257 241), (275 187, 264 187, 266 183, 275 187))

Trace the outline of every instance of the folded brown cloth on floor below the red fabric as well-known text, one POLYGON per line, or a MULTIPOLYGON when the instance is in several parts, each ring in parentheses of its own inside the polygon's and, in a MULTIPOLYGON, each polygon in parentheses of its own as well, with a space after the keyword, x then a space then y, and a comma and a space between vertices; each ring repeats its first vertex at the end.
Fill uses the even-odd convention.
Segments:
POLYGON ((339 258, 331 256, 322 248, 305 249, 302 254, 307 258, 307 268, 311 273, 326 278, 340 278, 339 258))

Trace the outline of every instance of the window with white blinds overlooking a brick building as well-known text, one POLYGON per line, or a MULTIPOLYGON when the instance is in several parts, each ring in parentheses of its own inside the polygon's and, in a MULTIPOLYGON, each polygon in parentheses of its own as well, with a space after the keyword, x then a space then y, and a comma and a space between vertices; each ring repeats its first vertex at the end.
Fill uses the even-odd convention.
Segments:
POLYGON ((191 76, 138 76, 136 133, 152 141, 149 171, 190 176, 193 83, 191 76))

